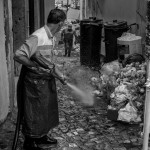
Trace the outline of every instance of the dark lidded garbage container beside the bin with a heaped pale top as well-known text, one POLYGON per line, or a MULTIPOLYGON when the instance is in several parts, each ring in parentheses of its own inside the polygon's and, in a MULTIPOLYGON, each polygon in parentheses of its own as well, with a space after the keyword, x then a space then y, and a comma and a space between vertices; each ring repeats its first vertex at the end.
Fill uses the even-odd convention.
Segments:
POLYGON ((120 37, 123 32, 127 32, 128 29, 129 26, 126 21, 113 20, 104 23, 106 62, 118 59, 117 38, 120 37))

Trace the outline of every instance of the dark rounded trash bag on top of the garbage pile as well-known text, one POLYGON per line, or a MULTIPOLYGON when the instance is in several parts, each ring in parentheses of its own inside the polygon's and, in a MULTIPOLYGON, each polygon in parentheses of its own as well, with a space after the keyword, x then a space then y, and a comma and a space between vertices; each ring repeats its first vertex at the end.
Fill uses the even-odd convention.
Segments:
POLYGON ((144 62, 145 58, 143 57, 143 55, 138 54, 138 53, 134 53, 129 55, 122 63, 123 67, 125 67, 127 64, 131 64, 133 62, 144 62))

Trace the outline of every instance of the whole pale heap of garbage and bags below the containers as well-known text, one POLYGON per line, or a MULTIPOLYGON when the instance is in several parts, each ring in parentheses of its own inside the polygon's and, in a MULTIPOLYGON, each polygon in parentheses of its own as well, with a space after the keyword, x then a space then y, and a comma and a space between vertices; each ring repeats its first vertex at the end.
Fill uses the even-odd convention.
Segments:
POLYGON ((132 62, 125 67, 115 66, 116 69, 110 64, 106 66, 100 78, 91 78, 96 87, 94 93, 107 99, 109 110, 118 111, 117 120, 140 122, 144 113, 146 63, 132 62))

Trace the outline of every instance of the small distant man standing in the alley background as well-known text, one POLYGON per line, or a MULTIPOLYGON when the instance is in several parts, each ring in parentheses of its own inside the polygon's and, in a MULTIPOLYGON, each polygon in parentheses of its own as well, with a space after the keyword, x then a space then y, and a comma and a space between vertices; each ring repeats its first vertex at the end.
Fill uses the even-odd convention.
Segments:
POLYGON ((76 38, 76 33, 72 29, 72 25, 69 24, 68 28, 64 29, 61 33, 61 39, 65 44, 65 56, 68 55, 68 57, 70 57, 71 50, 73 48, 73 36, 76 38))

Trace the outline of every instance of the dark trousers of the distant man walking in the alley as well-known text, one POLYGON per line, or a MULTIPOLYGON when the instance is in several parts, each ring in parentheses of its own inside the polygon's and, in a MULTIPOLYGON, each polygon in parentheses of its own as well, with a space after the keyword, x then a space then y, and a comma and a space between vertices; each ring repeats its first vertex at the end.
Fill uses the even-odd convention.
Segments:
POLYGON ((65 42, 65 56, 68 55, 68 57, 70 57, 73 46, 73 39, 67 39, 64 40, 64 42, 65 42))

